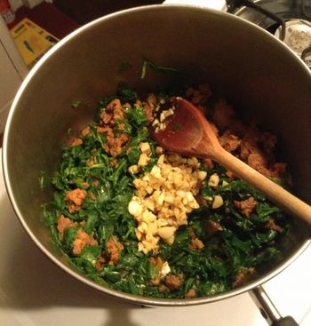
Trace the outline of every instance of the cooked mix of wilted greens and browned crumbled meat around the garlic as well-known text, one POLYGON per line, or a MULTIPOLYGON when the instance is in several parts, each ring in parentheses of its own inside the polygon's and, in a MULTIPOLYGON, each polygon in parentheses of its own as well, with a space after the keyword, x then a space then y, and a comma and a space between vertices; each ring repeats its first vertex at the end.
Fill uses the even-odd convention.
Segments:
MULTIPOLYGON (((44 218, 53 241, 95 282, 153 298, 211 296, 243 284, 258 269, 281 259, 277 243, 290 221, 217 163, 199 162, 193 169, 206 172, 200 174, 194 195, 199 208, 187 213, 187 225, 175 227, 172 243, 160 237, 153 250, 141 250, 138 236, 143 231, 138 232, 129 203, 144 190, 135 180, 152 171, 161 155, 166 159, 151 139, 148 124, 155 120, 150 107, 169 106, 171 95, 161 92, 143 100, 121 84, 114 96, 100 100, 96 121, 63 148, 59 171, 52 178, 54 197, 44 206, 44 218), (141 144, 146 143, 148 160, 141 163, 146 147, 141 144)), ((275 163, 272 135, 231 119, 227 104, 215 104, 206 85, 180 95, 215 120, 227 150, 248 163, 262 154, 257 169, 283 182, 284 165, 275 163)), ((156 192, 149 191, 150 196, 156 192)))

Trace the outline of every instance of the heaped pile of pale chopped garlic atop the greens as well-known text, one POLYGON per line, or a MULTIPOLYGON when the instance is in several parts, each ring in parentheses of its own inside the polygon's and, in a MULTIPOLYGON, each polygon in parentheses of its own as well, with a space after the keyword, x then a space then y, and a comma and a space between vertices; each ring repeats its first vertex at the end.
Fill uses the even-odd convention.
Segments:
MULTIPOLYGON (((160 155, 162 150, 158 152, 160 155)), ((151 171, 133 180, 136 190, 129 211, 138 222, 135 233, 140 251, 156 252, 160 238, 171 245, 176 230, 187 225, 187 213, 199 208, 195 200, 198 182, 206 178, 199 168, 200 163, 194 157, 162 154, 151 171)))

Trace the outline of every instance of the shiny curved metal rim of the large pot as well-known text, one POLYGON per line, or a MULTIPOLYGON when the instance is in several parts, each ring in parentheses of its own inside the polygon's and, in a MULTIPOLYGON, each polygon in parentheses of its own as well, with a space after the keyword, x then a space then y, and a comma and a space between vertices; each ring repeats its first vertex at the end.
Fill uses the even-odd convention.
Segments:
MULTIPOLYGON (((235 15, 232 15, 227 12, 219 12, 217 10, 213 10, 210 8, 206 8, 204 6, 200 5, 193 5, 193 4, 150 4, 150 5, 145 5, 145 6, 139 6, 139 7, 134 7, 130 9, 125 9, 119 12, 113 12, 111 14, 108 14, 106 16, 100 17, 97 20, 92 20, 88 24, 85 24, 81 28, 77 28, 74 32, 63 38, 58 44, 55 44, 52 49, 47 52, 44 57, 36 64, 34 68, 30 70, 28 73, 28 76, 25 78, 23 83, 20 86, 19 91, 17 92, 15 98, 13 99, 12 102, 12 107, 7 119, 6 123, 6 128, 4 130, 4 145, 3 145, 3 153, 2 153, 2 160, 3 160, 3 170, 4 170, 4 184, 7 190, 7 193, 9 195, 10 202, 12 203, 13 210, 15 211, 18 219, 20 220, 20 224, 24 229, 27 231, 28 235, 30 238, 33 240, 34 243, 36 243, 36 246, 44 252, 44 254, 52 260, 53 263, 55 263, 56 266, 59 266, 63 271, 65 271, 67 274, 71 275, 72 277, 76 278, 78 281, 83 282, 84 284, 92 287, 94 290, 99 290, 103 294, 106 294, 108 296, 114 297, 114 298, 119 298, 122 300, 125 300, 127 302, 132 302, 133 304, 139 304, 139 305, 144 305, 144 306, 193 306, 193 305, 202 305, 206 303, 211 303, 215 302, 218 300, 222 300, 225 298, 232 298, 235 295, 242 294, 243 292, 250 291, 252 289, 255 289, 256 287, 262 285, 263 283, 267 282, 271 278, 275 277, 275 275, 281 273, 283 269, 285 269, 287 266, 290 266, 291 263, 299 258, 300 254, 304 250, 307 249, 307 247, 311 244, 311 239, 306 239, 304 240, 299 247, 294 250, 294 252, 291 254, 289 258, 286 258, 283 263, 280 266, 277 266, 273 268, 270 272, 264 274, 263 276, 259 277, 259 279, 256 279, 250 283, 247 283, 241 287, 238 287, 233 290, 229 290, 224 293, 219 293, 217 295, 211 296, 211 297, 203 297, 203 298, 191 298, 191 299, 163 299, 163 298, 148 298, 148 297, 141 297, 141 296, 136 296, 132 295, 129 293, 121 292, 118 290, 112 290, 106 287, 101 286, 100 284, 96 282, 92 282, 90 279, 87 279, 86 276, 83 274, 78 274, 76 271, 73 269, 69 268, 68 266, 65 266, 60 259, 55 258, 52 253, 44 247, 42 243, 36 238, 36 236, 32 233, 30 227, 28 227, 27 221, 24 219, 22 216, 19 205, 14 199, 14 195, 12 192, 12 187, 10 184, 10 175, 9 175, 9 169, 8 169, 8 143, 9 143, 9 132, 10 132, 10 127, 12 123, 12 118, 14 115, 14 111, 16 107, 18 107, 20 97, 22 96, 23 92, 27 90, 28 83, 30 80, 36 76, 36 73, 44 67, 44 62, 46 60, 49 60, 49 58, 53 55, 54 52, 57 52, 60 50, 60 48, 64 45, 70 42, 71 39, 75 38, 76 36, 84 33, 85 30, 88 30, 92 28, 95 25, 101 24, 106 20, 111 20, 111 19, 116 19, 119 15, 124 15, 128 14, 131 12, 144 12, 144 11, 149 11, 149 10, 163 10, 163 7, 165 8, 179 8, 182 10, 193 10, 193 11, 205 11, 205 12, 211 12, 216 15, 227 15, 227 19, 231 20, 243 20, 235 15)), ((243 23, 247 25, 251 25, 251 28, 258 28, 263 34, 266 34, 268 37, 273 37, 275 39, 275 42, 279 42, 280 44, 283 44, 282 41, 278 40, 275 38, 275 36, 270 35, 266 30, 259 28, 257 25, 251 23, 250 21, 243 20, 243 23)), ((283 44, 283 46, 293 54, 295 54, 291 49, 283 44)), ((311 77, 311 72, 307 68, 307 65, 299 59, 298 56, 296 56, 296 59, 299 61, 301 65, 303 65, 306 68, 306 71, 310 74, 311 77)), ((294 58, 293 58, 294 59, 294 58)))

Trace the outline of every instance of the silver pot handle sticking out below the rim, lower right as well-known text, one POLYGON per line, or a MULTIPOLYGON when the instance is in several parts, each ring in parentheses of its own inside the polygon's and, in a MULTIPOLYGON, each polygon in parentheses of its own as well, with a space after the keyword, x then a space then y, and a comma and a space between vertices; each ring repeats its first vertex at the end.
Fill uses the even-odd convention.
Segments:
POLYGON ((251 290, 250 295, 270 326, 299 326, 291 316, 282 317, 262 286, 251 290))

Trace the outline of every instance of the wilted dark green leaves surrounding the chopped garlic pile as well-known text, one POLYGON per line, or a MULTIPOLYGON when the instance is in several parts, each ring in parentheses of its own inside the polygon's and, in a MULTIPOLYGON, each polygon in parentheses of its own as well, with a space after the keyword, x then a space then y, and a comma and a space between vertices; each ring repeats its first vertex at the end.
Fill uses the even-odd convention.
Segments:
MULTIPOLYGON (((147 61, 142 76, 147 66, 152 67, 147 61)), ((100 100, 99 117, 116 98, 133 104, 138 95, 120 84, 116 95, 100 100)), ((246 280, 256 270, 282 259, 277 243, 291 225, 288 217, 243 180, 230 179, 216 163, 212 169, 204 170, 208 176, 217 173, 220 186, 212 188, 203 183, 200 196, 205 202, 189 214, 187 226, 179 227, 174 243, 160 243, 157 253, 139 251, 135 220, 128 211, 136 177, 128 168, 137 164, 141 142, 148 142, 151 147, 150 162, 143 170, 150 170, 156 163, 156 144, 148 133, 147 115, 143 107, 132 106, 124 119, 116 121, 114 134, 123 132, 129 137, 117 162, 116 157, 103 150, 108 140, 99 127, 100 120, 90 123, 88 132, 79 136, 81 144, 63 147, 59 170, 52 178, 55 193, 52 202, 44 205, 44 219, 53 241, 87 277, 103 286, 146 297, 185 298, 190 290, 195 291, 195 297, 205 297, 230 290, 240 284, 240 276, 246 280), (78 209, 70 210, 68 192, 75 189, 85 195, 85 200, 78 209), (218 210, 208 204, 215 195, 224 200, 218 210), (257 206, 245 218, 236 209, 235 201, 250 196, 257 206), (62 232, 60 217, 70 221, 62 232), (267 227, 271 220, 277 229, 267 227), (81 230, 94 241, 75 253, 74 243, 81 230), (204 244, 203 249, 191 247, 193 234, 204 244), (115 262, 110 256, 111 239, 115 239, 118 252, 115 262), (161 272, 155 259, 168 263, 168 275, 179 275, 179 287, 163 290, 164 277, 153 282, 161 272)), ((44 173, 40 183, 43 187, 44 173)))

